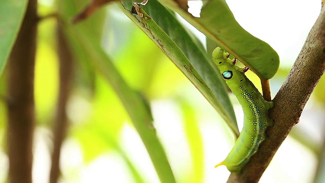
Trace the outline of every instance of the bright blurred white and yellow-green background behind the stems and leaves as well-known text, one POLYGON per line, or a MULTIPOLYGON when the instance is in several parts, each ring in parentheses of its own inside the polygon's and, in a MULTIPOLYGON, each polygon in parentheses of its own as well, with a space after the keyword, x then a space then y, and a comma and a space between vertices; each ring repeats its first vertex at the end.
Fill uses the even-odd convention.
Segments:
MULTIPOLYGON (((237 21, 249 33, 269 43, 280 56, 280 69, 270 80, 273 98, 320 12, 320 1, 226 2, 237 21)), ((194 11, 200 10, 200 2, 194 2, 193 7, 194 11)), ((102 45, 126 82, 148 97, 157 135, 177 181, 225 182, 230 172, 225 166, 214 168, 234 144, 223 119, 120 9, 110 4, 102 11, 106 16, 102 45)), ((39 1, 40 15, 53 12, 52 0, 39 1)), ((186 26, 205 45, 204 35, 186 26)), ((54 18, 44 19, 39 24, 34 182, 48 182, 51 165, 51 129, 59 84, 59 63, 53 40, 55 27, 54 18)), ((6 93, 5 76, 0 78, 2 96, 6 93)), ((253 74, 248 77, 260 85, 253 74)), ((260 182, 312 182, 317 170, 322 172, 321 166, 317 166, 324 144, 324 88, 322 78, 300 123, 281 145, 260 182)), ((230 97, 241 129, 241 106, 233 95, 230 97)), ((59 182, 137 182, 133 168, 145 182, 159 182, 143 142, 114 90, 99 72, 85 63, 78 63, 74 68, 73 89, 66 111, 70 125, 61 148, 59 182)), ((8 173, 6 121, 6 105, 1 101, 0 182, 6 182, 8 173)))

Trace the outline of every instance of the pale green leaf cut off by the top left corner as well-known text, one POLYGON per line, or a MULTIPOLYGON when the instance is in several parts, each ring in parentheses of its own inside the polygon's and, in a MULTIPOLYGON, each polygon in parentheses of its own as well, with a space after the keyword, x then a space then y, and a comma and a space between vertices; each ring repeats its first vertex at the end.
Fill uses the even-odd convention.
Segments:
POLYGON ((4 0, 0 5, 0 75, 24 18, 27 0, 4 0), (6 18, 5 18, 6 17, 6 18))

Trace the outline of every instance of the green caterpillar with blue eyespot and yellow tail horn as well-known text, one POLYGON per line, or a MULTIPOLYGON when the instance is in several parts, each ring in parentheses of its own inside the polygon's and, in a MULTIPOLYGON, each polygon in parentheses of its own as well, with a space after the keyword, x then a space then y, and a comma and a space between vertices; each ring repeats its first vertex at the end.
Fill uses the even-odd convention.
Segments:
POLYGON ((267 127, 274 124, 268 117, 268 110, 274 103, 264 100, 262 94, 245 76, 244 73, 249 68, 236 66, 236 58, 230 59, 229 56, 229 53, 219 47, 212 53, 214 63, 243 108, 244 127, 229 155, 215 167, 225 165, 229 171, 240 173, 265 139, 267 127))

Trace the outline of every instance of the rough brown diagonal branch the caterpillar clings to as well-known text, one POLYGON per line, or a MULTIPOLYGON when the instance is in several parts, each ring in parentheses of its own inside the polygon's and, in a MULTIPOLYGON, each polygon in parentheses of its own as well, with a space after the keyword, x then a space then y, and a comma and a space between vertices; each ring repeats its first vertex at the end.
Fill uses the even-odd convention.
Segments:
POLYGON ((270 117, 275 125, 267 130, 269 138, 259 146, 242 174, 232 173, 228 182, 258 182, 291 128, 299 122, 302 110, 324 70, 325 9, 322 9, 293 68, 273 100, 275 107, 270 110, 270 117))

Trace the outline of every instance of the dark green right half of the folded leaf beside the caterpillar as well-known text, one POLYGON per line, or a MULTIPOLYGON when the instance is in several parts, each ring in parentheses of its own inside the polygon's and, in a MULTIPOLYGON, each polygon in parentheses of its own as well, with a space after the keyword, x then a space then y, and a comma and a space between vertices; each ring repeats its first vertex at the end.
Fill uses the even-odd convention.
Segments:
MULTIPOLYGON (((226 124, 229 127, 237 126, 235 112, 229 100, 226 85, 219 70, 212 62, 211 54, 208 54, 203 45, 188 34, 186 29, 176 19, 175 13, 167 10, 157 0, 150 0, 146 6, 143 6, 143 10, 148 12, 150 17, 179 46, 189 59, 189 62, 206 81, 215 98, 219 101, 217 111, 225 113, 228 117, 224 118, 226 124)), ((237 133, 238 127, 232 131, 237 133)), ((238 137, 239 133, 234 135, 238 137)))

